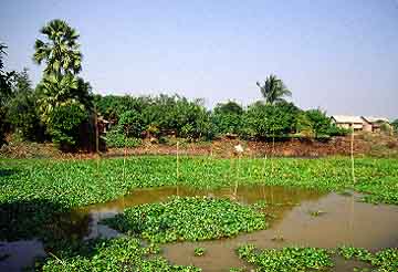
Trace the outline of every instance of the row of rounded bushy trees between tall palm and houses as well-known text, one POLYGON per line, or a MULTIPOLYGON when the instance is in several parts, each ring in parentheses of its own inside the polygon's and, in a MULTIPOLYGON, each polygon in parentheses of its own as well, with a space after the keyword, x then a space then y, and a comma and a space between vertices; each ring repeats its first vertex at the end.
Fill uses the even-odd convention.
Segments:
POLYGON ((269 139, 290 137, 295 133, 317 138, 347 133, 332 125, 325 113, 318 109, 303 112, 283 100, 272 104, 255 102, 248 109, 230 101, 219 103, 212 112, 208 112, 200 101, 189 102, 177 95, 96 95, 95 105, 112 123, 113 133, 127 138, 174 135, 188 139, 211 139, 214 136, 239 135, 269 139))

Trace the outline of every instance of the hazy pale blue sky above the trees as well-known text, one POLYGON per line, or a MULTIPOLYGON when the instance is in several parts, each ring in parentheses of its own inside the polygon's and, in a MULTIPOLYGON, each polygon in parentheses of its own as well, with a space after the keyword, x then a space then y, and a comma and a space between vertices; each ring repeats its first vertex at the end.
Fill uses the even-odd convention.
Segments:
POLYGON ((301 107, 398 117, 397 0, 1 0, 9 70, 40 80, 33 44, 55 18, 81 33, 95 93, 248 105, 275 73, 301 107))

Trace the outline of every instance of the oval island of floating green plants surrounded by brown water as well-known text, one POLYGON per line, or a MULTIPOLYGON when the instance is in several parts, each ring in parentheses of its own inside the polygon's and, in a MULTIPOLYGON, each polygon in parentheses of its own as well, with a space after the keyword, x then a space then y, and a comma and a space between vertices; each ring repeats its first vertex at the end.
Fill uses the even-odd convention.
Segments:
POLYGON ((234 237, 268 226, 264 215, 248 206, 199 197, 175 197, 167 202, 127 208, 104 222, 155 243, 234 237))

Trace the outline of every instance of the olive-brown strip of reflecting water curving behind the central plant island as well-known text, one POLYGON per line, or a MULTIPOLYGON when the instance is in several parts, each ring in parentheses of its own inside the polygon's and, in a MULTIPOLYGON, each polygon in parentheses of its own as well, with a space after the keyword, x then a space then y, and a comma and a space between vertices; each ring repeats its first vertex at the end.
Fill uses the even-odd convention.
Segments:
POLYGON ((282 215, 291 210, 294 205, 298 205, 302 201, 320 199, 323 193, 315 190, 259 185, 226 187, 221 189, 193 189, 189 187, 177 186, 161 187, 136 189, 129 195, 121 197, 114 201, 87 206, 75 210, 74 213, 90 216, 90 224, 86 226, 86 228, 90 230, 86 238, 95 238, 98 236, 111 238, 118 236, 118 233, 115 230, 107 228, 106 226, 98 224, 98 221, 113 217, 116 213, 122 212, 125 208, 143 203, 166 201, 171 196, 206 196, 212 198, 229 198, 231 200, 247 205, 263 200, 271 205, 270 209, 272 209, 272 213, 275 216, 275 219, 282 219, 282 215))

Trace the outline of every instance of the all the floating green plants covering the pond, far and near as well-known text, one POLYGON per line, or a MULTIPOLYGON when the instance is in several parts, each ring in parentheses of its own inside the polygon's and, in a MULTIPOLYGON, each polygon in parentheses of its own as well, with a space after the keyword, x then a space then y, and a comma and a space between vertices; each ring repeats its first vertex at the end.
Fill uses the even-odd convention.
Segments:
MULTIPOLYGON (((164 186, 216 189, 238 188, 238 185, 268 185, 320 191, 354 190, 365 193, 364 201, 367 202, 398 205, 397 163, 397 159, 358 158, 355 161, 356 182, 353 184, 350 160, 344 157, 180 157, 178 175, 176 157, 171 156, 132 157, 125 164, 123 159, 0 159, 0 241, 38 239, 42 242, 48 259, 44 266, 38 266, 38 270, 196 271, 192 266, 168 263, 166 259, 153 254, 157 251, 156 247, 144 245, 133 237, 86 242, 84 238, 87 237, 91 218, 77 213, 64 218, 64 215, 83 206, 117 199, 136 188, 164 186), (76 229, 76 221, 85 221, 85 228, 76 229)), ((266 206, 266 202, 244 206, 226 199, 179 197, 166 202, 128 208, 107 223, 127 234, 143 238, 143 241, 199 241, 266 228, 265 219, 271 218, 261 212, 266 206)), ((306 215, 321 215, 320 211, 308 210, 306 215)), ((327 218, 327 212, 320 217, 311 216, 312 220, 327 218)), ((380 271, 398 271, 396 249, 385 249, 370 255, 354 249, 334 251, 341 252, 335 254, 359 260, 380 271)), ((193 250, 191 253, 195 254, 193 250)), ((308 270, 317 265, 334 268, 329 266, 329 258, 333 257, 329 250, 285 249, 270 251, 266 255, 253 250, 251 254, 243 260, 252 260, 250 263, 260 271, 268 271, 262 268, 262 263, 273 263, 277 258, 298 258, 294 262, 308 270), (301 260, 302 257, 305 260, 301 260)), ((206 251, 200 258, 195 258, 206 259, 210 255, 211 251, 206 251)), ((11 259, 0 254, 0 263, 11 259)), ((286 261, 286 265, 287 269, 281 271, 295 271, 294 263, 286 261)))

